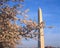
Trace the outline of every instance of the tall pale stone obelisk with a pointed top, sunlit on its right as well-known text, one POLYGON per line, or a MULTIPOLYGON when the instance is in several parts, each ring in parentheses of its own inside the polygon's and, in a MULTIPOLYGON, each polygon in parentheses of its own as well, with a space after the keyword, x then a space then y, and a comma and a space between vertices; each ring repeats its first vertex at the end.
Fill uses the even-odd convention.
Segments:
POLYGON ((38 48, 44 48, 44 31, 43 31, 43 20, 42 20, 42 10, 38 9, 38 24, 39 24, 39 35, 38 35, 38 48))

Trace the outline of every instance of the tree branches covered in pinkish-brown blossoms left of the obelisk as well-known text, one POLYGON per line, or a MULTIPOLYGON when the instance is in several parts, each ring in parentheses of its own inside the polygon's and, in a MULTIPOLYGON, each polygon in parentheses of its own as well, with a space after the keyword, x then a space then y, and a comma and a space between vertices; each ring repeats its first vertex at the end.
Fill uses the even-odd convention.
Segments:
POLYGON ((0 48, 15 48, 21 37, 33 38, 37 35, 37 23, 26 19, 29 9, 23 12, 18 10, 23 7, 21 2, 24 0, 0 0, 0 48), (11 7, 7 4, 9 1, 18 4, 11 7), (18 14, 23 16, 23 19, 17 18, 18 14), (16 21, 19 21, 20 25, 17 25, 16 21))

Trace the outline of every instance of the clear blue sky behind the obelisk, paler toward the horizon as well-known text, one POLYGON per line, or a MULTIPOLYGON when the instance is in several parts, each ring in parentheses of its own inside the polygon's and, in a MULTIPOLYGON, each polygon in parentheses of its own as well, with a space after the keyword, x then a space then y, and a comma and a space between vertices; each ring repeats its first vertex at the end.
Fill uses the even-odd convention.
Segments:
MULTIPOLYGON (((60 0, 25 0, 25 7, 29 8, 29 17, 38 20, 38 8, 42 9, 43 20, 47 26, 44 29, 45 45, 60 46, 60 0)), ((34 42, 37 45, 37 42, 34 42)))

